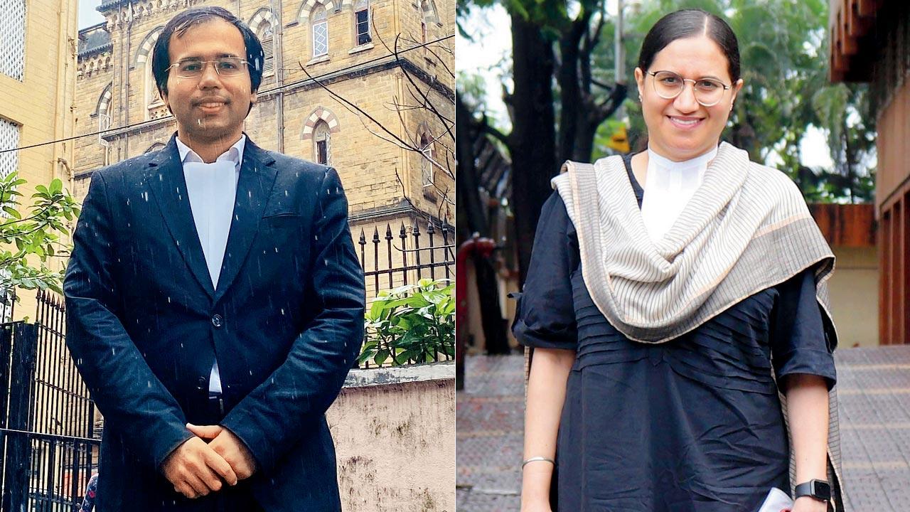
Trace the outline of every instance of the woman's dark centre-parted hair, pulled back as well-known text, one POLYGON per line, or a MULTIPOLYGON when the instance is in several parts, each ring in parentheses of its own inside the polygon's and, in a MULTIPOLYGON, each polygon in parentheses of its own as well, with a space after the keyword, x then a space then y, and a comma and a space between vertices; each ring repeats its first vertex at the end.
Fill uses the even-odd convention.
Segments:
POLYGON ((727 57, 727 67, 735 84, 740 79, 739 44, 733 29, 722 18, 700 9, 682 9, 663 16, 644 36, 638 67, 647 72, 663 48, 676 39, 705 35, 721 47, 727 57))

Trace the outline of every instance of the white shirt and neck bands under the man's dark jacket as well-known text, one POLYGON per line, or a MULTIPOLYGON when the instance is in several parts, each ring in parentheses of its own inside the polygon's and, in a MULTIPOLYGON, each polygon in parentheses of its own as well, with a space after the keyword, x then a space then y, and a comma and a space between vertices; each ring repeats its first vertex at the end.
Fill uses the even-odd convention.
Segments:
MULTIPOLYGON (((243 162, 246 144, 247 136, 243 135, 214 162, 207 164, 196 151, 177 138, 177 152, 183 163, 183 176, 187 180, 189 206, 206 257, 208 276, 212 280, 212 287, 216 289, 227 247, 227 234, 234 215, 240 164, 243 162)), ((209 374, 208 391, 221 393, 217 359, 209 374)))

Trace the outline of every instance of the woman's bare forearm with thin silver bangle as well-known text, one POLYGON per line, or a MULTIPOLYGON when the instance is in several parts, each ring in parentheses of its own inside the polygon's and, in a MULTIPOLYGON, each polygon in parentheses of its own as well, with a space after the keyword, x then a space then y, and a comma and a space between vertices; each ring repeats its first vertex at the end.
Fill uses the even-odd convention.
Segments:
MULTIPOLYGON (((524 458, 556 454, 556 435, 560 426, 566 381, 575 352, 560 349, 534 349, 528 377, 528 404, 524 415, 524 458)), ((549 499, 553 466, 549 462, 531 462, 524 466, 521 478, 521 502, 545 502, 549 499)))

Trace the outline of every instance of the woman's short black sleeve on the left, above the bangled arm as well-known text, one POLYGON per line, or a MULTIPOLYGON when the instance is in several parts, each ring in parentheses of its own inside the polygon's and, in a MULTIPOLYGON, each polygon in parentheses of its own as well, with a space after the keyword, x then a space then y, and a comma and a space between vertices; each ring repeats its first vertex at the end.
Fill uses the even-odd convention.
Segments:
POLYGON ((541 210, 528 275, 512 323, 512 333, 523 345, 568 350, 578 345, 571 289, 578 256, 570 230, 565 204, 554 191, 541 210))

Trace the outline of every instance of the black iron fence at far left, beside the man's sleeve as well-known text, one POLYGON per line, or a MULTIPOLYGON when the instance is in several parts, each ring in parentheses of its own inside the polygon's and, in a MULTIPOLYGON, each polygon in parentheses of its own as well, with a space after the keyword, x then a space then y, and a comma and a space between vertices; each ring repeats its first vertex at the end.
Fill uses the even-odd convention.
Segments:
POLYGON ((97 470, 95 404, 66 352, 62 302, 37 302, 37 323, 0 324, 0 510, 75 512, 97 470))

